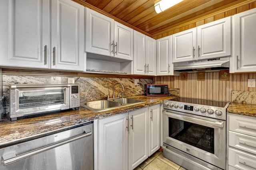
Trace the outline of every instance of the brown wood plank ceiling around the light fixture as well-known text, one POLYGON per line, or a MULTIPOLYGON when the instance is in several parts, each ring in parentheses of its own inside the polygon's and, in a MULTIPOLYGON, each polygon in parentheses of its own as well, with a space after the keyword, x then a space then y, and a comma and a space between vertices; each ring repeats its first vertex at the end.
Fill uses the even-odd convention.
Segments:
MULTIPOLYGON (((157 14, 154 0, 74 0, 84 6, 95 7, 142 30, 151 37, 164 33, 182 23, 202 19, 242 3, 253 0, 184 0, 157 14)), ((95 9, 94 8, 94 9, 95 9)))

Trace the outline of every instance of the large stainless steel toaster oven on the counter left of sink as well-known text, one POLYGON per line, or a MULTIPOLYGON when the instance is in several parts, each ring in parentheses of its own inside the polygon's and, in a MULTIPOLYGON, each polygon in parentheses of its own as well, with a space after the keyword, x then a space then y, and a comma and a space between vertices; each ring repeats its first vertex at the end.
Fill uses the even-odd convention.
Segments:
POLYGON ((79 109, 79 84, 10 85, 10 119, 65 109, 79 109))

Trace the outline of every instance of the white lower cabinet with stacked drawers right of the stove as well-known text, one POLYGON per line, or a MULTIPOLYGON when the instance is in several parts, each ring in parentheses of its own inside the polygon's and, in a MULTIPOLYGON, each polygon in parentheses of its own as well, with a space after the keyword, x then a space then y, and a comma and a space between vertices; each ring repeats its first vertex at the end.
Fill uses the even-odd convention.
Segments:
POLYGON ((256 118, 228 114, 228 170, 256 169, 256 118))

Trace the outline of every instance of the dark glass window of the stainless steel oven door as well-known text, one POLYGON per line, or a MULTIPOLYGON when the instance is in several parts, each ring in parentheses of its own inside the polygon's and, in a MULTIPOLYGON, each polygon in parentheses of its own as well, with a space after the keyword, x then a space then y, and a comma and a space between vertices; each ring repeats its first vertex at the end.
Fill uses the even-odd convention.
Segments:
POLYGON ((169 117, 169 137, 214 154, 214 128, 169 117))

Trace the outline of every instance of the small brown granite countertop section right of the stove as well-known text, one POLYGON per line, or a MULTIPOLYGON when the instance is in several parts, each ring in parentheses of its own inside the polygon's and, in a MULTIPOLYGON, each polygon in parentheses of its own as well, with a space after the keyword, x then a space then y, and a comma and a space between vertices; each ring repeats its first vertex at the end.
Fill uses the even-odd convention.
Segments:
POLYGON ((228 113, 256 117, 256 104, 242 104, 231 102, 227 109, 228 113))

